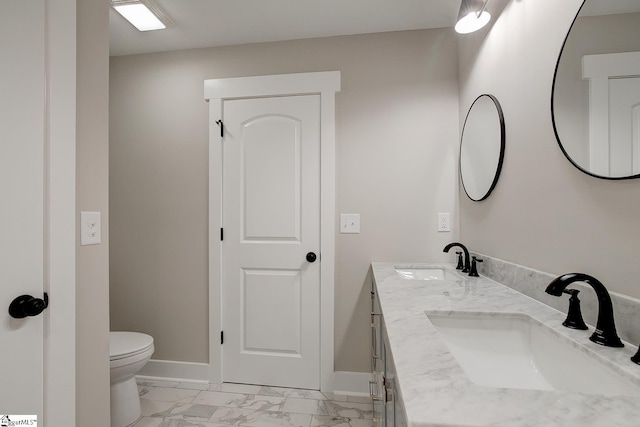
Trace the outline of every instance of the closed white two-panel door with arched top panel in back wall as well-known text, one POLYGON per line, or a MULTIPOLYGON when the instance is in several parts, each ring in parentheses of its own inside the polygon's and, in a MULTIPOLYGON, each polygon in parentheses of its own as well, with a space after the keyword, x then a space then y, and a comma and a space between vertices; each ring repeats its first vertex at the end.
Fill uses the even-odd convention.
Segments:
POLYGON ((320 96, 223 117, 223 379, 319 389, 320 96))

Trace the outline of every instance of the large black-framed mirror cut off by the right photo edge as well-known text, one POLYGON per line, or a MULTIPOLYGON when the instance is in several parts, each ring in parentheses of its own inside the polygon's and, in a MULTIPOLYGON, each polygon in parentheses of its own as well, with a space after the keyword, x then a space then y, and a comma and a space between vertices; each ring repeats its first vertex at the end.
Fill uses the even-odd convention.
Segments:
POLYGON ((584 2, 560 52, 551 108, 578 169, 640 177, 640 0, 584 2))

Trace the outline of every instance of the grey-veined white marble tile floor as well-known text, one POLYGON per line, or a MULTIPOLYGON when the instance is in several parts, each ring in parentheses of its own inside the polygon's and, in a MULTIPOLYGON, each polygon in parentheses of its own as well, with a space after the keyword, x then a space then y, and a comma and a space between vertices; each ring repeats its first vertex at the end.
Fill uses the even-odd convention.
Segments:
POLYGON ((371 427, 371 398, 247 384, 138 379, 133 427, 371 427))

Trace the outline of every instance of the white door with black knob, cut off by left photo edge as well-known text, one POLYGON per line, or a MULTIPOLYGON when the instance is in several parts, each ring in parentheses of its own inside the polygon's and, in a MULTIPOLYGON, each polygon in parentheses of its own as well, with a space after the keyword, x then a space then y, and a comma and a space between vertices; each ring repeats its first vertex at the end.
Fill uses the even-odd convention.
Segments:
MULTIPOLYGON (((43 413, 43 315, 11 301, 43 295, 45 6, 0 2, 0 416, 43 413)), ((73 414, 72 414, 73 416, 73 414)))

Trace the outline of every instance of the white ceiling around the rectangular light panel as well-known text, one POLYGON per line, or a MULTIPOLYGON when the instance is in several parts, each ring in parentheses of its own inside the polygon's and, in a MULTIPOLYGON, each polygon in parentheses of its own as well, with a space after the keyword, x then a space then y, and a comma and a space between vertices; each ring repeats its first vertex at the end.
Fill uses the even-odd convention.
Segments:
POLYGON ((156 0, 175 25, 139 32, 110 10, 112 56, 452 27, 459 0, 156 0))

